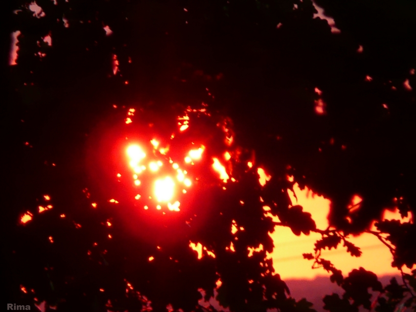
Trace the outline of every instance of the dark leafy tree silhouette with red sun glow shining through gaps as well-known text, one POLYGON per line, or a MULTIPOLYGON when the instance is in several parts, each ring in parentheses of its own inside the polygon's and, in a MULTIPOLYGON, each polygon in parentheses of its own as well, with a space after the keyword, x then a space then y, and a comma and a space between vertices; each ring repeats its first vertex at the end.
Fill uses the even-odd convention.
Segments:
POLYGON ((266 258, 280 225, 322 234, 303 256, 345 291, 326 295, 324 309, 416 311, 416 270, 402 271, 416 263, 415 225, 379 220, 386 207, 416 213, 416 7, 316 4, 340 33, 314 18, 310 0, 13 3, 7 30, 19 31, 19 50, 5 67, 1 122, 8 301, 46 301, 46 311, 215 311, 198 304, 199 290, 209 300, 215 289, 230 311, 314 311, 266 258), (155 208, 147 176, 135 198, 125 137, 163 161, 204 147, 180 211, 155 208), (153 137, 169 151, 152 150, 153 137), (271 176, 264 185, 258 168, 271 176), (331 200, 330 228, 293 205, 294 182, 331 200), (363 201, 350 214, 354 194, 363 201), (24 214, 32 220, 22 224, 24 214), (383 288, 370 271, 341 272, 321 258, 340 244, 360 256, 348 235, 364 231, 390 249, 402 284, 383 288))

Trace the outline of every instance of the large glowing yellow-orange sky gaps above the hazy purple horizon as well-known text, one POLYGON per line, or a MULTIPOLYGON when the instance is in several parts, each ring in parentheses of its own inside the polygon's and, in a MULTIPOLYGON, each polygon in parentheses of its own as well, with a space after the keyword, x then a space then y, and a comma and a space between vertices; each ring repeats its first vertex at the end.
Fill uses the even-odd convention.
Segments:
MULTIPOLYGON (((298 184, 294 185, 294 191, 298 197, 291 195, 293 203, 303 206, 303 210, 312 214, 312 219, 320 229, 328 226, 327 215, 329 213, 330 201, 323 197, 314 195, 312 191, 305 188, 300 190, 298 184)), ((291 191, 289 191, 291 193, 291 191)), ((398 212, 385 212, 385 219, 401 219, 398 212)), ((405 220, 408 221, 408 220, 405 220)), ((270 234, 275 243, 275 249, 271 254, 276 273, 282 279, 308 278, 312 279, 317 275, 329 275, 323 268, 312 269, 313 261, 303 259, 302 253, 313 253, 314 243, 321 238, 321 234, 311 233, 309 236, 301 234, 296 236, 290 228, 276 226, 275 231, 270 234)), ((364 267, 377 275, 397 274, 399 271, 391 267, 393 261, 388 248, 383 245, 374 235, 364 233, 357 237, 350 236, 349 241, 361 248, 361 257, 351 257, 342 244, 338 249, 325 250, 322 258, 330 260, 335 267, 341 269, 344 276, 354 268, 364 267)), ((410 269, 404 267, 404 271, 410 269)))

